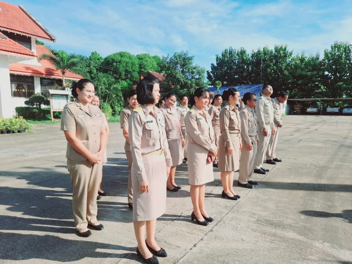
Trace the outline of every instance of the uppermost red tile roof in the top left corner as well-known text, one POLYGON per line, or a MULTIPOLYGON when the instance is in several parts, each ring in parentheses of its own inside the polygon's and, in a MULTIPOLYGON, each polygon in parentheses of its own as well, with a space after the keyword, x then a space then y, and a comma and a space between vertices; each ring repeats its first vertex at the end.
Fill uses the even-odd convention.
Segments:
POLYGON ((0 1, 0 29, 55 42, 56 38, 24 7, 0 1))

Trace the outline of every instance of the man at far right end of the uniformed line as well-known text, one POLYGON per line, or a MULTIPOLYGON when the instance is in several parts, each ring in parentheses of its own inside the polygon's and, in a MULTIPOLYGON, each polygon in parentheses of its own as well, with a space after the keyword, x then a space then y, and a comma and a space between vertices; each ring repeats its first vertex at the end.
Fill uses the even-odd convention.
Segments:
POLYGON ((279 92, 279 96, 275 98, 272 103, 272 107, 274 108, 274 125, 276 128, 276 133, 274 136, 270 137, 268 150, 266 151, 266 163, 271 162, 282 162, 281 159, 276 157, 275 149, 277 144, 277 138, 279 135, 279 127, 282 127, 282 120, 281 120, 281 106, 280 103, 284 103, 288 99, 287 92, 279 92))

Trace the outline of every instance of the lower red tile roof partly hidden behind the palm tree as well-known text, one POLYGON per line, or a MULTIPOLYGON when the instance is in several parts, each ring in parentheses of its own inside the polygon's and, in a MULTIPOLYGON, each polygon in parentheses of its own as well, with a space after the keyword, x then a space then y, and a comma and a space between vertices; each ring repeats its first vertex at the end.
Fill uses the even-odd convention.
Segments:
MULTIPOLYGON (((37 56, 40 57, 42 54, 52 54, 45 46, 37 46, 37 56)), ((24 74, 24 75, 34 75, 34 76, 43 76, 51 78, 62 78, 61 71, 57 70, 54 65, 49 61, 43 59, 40 61, 42 66, 29 65, 23 63, 10 63, 10 73, 14 74, 24 74)), ((70 80, 80 80, 83 77, 79 74, 76 74, 70 70, 65 73, 65 78, 70 80)))

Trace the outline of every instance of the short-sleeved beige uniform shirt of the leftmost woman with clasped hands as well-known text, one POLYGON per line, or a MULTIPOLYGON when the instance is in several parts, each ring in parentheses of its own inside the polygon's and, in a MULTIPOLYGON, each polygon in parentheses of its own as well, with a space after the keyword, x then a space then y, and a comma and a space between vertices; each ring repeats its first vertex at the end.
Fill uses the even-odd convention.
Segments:
MULTIPOLYGON (((61 130, 76 131, 76 137, 92 153, 100 149, 100 132, 103 128, 105 128, 105 119, 99 107, 88 103, 88 112, 86 112, 77 99, 64 106, 61 130)), ((66 158, 73 161, 87 160, 69 142, 67 142, 66 158)))

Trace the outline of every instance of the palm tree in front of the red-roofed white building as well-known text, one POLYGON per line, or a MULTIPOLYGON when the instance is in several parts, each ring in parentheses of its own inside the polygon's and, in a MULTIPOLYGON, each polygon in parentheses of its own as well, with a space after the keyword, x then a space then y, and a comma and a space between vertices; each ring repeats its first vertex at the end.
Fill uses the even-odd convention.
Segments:
POLYGON ((65 73, 71 69, 74 70, 81 66, 81 58, 74 53, 67 54, 63 50, 59 50, 56 56, 52 54, 42 54, 38 60, 46 59, 62 73, 62 88, 65 88, 65 73))

